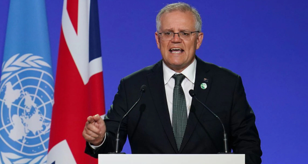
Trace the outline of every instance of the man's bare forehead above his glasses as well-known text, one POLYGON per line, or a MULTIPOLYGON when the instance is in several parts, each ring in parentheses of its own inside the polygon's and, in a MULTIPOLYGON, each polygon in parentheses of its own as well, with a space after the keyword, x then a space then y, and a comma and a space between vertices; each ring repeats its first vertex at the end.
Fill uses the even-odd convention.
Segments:
POLYGON ((160 30, 195 30, 195 18, 190 11, 165 12, 160 17, 160 30))

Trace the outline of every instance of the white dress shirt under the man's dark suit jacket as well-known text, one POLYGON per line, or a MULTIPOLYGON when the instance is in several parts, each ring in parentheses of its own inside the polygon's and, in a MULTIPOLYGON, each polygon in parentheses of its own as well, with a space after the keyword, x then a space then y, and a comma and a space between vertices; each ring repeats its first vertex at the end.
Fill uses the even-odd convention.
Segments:
POLYGON ((183 74, 186 77, 183 80, 181 85, 182 85, 182 88, 183 88, 183 91, 184 91, 184 94, 185 94, 186 107, 187 107, 187 118, 188 118, 191 100, 192 100, 192 97, 189 95, 189 90, 194 89, 195 78, 196 78, 196 66, 197 66, 197 61, 195 59, 193 61, 193 63, 190 64, 181 73, 176 73, 175 71, 171 70, 166 64, 164 64, 162 62, 163 82, 164 82, 164 85, 165 85, 166 98, 167 98, 167 104, 168 104, 171 124, 172 124, 173 88, 174 88, 174 84, 175 84, 175 81, 172 78, 172 76, 174 74, 183 74))

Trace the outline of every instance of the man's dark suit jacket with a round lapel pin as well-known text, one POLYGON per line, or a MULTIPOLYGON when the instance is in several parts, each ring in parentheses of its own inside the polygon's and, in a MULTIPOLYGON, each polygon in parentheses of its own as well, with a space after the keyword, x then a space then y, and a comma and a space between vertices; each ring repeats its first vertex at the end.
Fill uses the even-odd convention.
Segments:
MULTIPOLYGON (((228 133, 230 151, 245 154, 246 164, 260 164, 262 152, 255 115, 246 100, 241 78, 198 57, 196 60, 196 96, 221 118, 228 133), (207 83, 206 89, 200 87, 203 82, 207 83)), ((177 150, 166 101, 162 61, 159 61, 121 80, 113 105, 104 119, 106 140, 95 152, 86 143, 85 153, 97 158, 98 154, 114 152, 119 122, 138 100, 143 84, 147 85, 146 92, 120 128, 121 150, 128 135, 133 154, 223 152, 221 123, 195 99, 192 100, 182 145, 177 150)))

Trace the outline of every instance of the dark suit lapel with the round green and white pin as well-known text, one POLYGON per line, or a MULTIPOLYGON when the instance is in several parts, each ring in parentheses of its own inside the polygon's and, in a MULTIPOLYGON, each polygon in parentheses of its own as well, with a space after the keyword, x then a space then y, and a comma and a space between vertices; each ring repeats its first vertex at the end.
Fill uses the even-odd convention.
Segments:
MULTIPOLYGON (((206 67, 206 63, 203 62, 198 57, 196 57, 196 60, 197 60, 197 66, 196 66, 197 68, 196 68, 194 91, 197 98, 205 104, 205 101, 210 91, 212 76, 208 74, 208 71, 210 70, 208 67, 206 67), (203 89, 204 87, 201 88, 202 83, 205 83, 207 85, 205 89, 203 89)), ((203 86, 205 85, 203 84, 203 86)), ((197 100, 192 99, 186 130, 179 153, 183 151, 197 123, 199 122, 198 120, 200 120, 205 110, 206 109, 197 100)))

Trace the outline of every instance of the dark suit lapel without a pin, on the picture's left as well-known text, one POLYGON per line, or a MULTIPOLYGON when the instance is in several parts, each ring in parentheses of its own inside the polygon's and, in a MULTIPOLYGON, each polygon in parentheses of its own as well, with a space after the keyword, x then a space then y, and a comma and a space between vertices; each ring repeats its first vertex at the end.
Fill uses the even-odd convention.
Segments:
POLYGON ((162 61, 159 61, 152 70, 153 73, 149 74, 147 78, 150 85, 149 88, 154 101, 154 105, 169 142, 171 143, 174 151, 177 153, 178 151, 171 126, 166 92, 163 82, 162 61))

